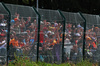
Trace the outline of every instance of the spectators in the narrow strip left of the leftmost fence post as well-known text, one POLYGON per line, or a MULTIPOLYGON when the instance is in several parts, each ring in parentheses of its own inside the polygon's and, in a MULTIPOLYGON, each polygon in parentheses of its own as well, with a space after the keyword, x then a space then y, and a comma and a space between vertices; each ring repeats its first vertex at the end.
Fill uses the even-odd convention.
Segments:
POLYGON ((0 63, 6 62, 7 17, 0 14, 0 63))

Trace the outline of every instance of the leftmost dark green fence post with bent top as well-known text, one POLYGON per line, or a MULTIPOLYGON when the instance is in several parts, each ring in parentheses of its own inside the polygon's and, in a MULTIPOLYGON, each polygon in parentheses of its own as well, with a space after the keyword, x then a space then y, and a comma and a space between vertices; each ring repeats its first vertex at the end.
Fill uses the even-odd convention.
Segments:
POLYGON ((8 32, 7 32, 7 65, 8 65, 8 59, 9 59, 9 42, 10 42, 10 20, 11 20, 11 13, 9 11, 9 9, 5 6, 5 4, 2 2, 3 7, 7 10, 8 12, 8 21, 7 21, 7 28, 8 28, 8 32))

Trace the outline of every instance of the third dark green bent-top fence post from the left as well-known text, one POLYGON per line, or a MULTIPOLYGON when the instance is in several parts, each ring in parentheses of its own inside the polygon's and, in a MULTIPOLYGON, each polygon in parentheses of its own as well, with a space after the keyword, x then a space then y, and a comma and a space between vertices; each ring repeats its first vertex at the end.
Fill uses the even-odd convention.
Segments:
POLYGON ((61 13, 60 10, 58 10, 60 15, 62 16, 63 18, 63 37, 62 37, 62 63, 64 62, 64 37, 65 37, 65 21, 66 21, 66 18, 65 16, 61 13))

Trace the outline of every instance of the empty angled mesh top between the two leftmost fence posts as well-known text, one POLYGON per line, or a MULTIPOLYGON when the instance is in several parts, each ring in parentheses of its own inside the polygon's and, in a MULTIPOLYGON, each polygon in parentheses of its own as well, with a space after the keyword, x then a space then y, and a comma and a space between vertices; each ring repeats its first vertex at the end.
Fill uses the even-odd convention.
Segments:
POLYGON ((37 17, 37 13, 33 9, 33 7, 15 4, 5 5, 10 10, 11 15, 15 15, 15 13, 17 13, 20 15, 20 17, 37 17))

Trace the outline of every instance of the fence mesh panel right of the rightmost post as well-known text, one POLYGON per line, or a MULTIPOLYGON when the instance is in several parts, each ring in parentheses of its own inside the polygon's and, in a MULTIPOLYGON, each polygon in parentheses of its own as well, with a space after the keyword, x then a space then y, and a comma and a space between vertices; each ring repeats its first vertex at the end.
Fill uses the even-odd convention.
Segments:
POLYGON ((85 44, 85 56, 91 61, 100 60, 100 17, 98 15, 83 14, 86 19, 86 44, 85 44))

